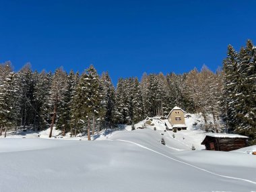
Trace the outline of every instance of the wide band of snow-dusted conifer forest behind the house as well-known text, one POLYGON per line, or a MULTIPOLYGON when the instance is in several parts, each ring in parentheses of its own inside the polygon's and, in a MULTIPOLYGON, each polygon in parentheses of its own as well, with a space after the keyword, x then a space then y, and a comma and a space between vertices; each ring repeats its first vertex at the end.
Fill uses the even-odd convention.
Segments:
MULTIPOLYGON (((222 69, 205 65, 188 73, 144 73, 120 78, 116 88, 108 73, 93 65, 82 74, 62 68, 54 73, 32 71, 29 64, 14 72, 9 61, 0 65, 0 135, 7 129, 32 127, 40 131, 55 125, 71 137, 103 127, 133 124, 156 115, 166 116, 174 106, 201 113, 205 130, 241 133, 256 142, 256 49, 248 40, 240 51, 228 46, 222 69), (214 122, 208 121, 211 115, 214 122), (218 125, 222 119, 226 127, 218 125)), ((5 132, 5 133, 4 133, 5 132)), ((49 135, 51 137, 51 133, 49 135)))

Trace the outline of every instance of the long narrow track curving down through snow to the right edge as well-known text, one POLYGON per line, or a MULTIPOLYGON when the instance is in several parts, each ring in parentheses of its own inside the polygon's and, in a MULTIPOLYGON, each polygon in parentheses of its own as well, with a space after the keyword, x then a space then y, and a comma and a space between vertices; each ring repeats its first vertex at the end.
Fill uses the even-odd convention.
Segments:
POLYGON ((189 163, 187 163, 187 162, 183 162, 183 161, 181 161, 181 160, 177 160, 177 159, 175 159, 175 158, 171 158, 171 157, 169 157, 169 156, 166 156, 165 154, 162 154, 162 153, 160 153, 160 152, 157 152, 157 151, 155 151, 155 150, 152 150, 152 149, 150 149, 150 148, 147 148, 146 146, 142 146, 141 144, 135 143, 135 142, 133 142, 133 141, 127 141, 127 140, 123 140, 123 139, 117 139, 117 141, 123 141, 123 142, 127 142, 127 143, 133 143, 135 146, 139 146, 140 148, 144 148, 144 149, 149 150, 149 151, 151 151, 151 152, 154 152, 154 153, 156 153, 156 154, 160 154, 161 156, 164 156, 164 157, 166 157, 166 158, 169 158, 170 160, 174 160, 174 161, 176 161, 176 162, 180 162, 180 163, 182 163, 182 164, 186 164, 187 166, 191 166, 191 167, 193 167, 193 168, 197 168, 198 170, 202 170, 202 171, 204 171, 204 172, 208 172, 208 173, 210 173, 210 174, 214 174, 214 175, 216 175, 216 176, 218 176, 218 177, 224 177, 224 178, 227 178, 227 179, 234 179, 234 180, 239 180, 239 181, 245 181, 245 182, 253 183, 254 185, 256 185, 256 182, 255 182, 255 181, 251 181, 251 180, 248 180, 248 179, 241 179, 241 178, 237 178, 237 177, 230 177, 230 176, 226 176, 226 175, 222 175, 222 174, 218 174, 218 173, 212 172, 212 171, 210 171, 210 170, 206 170, 206 169, 204 169, 204 168, 199 168, 198 166, 194 166, 193 164, 189 164, 189 163))

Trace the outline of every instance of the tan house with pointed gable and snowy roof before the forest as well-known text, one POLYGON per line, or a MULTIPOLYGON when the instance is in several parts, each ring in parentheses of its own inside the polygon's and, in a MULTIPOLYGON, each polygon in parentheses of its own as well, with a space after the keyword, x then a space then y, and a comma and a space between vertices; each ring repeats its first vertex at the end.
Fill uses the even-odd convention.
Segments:
POLYGON ((187 125, 185 124, 185 111, 178 106, 172 108, 170 113, 167 116, 168 123, 170 123, 171 127, 169 129, 176 129, 178 131, 187 130, 187 125))

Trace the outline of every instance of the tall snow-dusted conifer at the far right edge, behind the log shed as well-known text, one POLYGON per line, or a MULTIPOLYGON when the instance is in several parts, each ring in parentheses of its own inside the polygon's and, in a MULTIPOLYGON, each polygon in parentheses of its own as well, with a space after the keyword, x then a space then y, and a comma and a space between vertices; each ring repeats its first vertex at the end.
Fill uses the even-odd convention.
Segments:
POLYGON ((234 108, 238 122, 235 131, 251 138, 256 138, 255 61, 255 49, 252 42, 248 40, 245 49, 242 48, 238 53, 238 84, 234 94, 234 100, 236 100, 234 108))

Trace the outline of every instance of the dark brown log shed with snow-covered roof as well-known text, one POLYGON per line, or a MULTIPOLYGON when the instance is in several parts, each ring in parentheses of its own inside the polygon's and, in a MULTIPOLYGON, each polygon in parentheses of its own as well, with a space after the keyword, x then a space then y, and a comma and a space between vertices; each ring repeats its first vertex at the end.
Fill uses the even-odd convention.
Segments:
POLYGON ((247 146, 248 137, 236 134, 207 133, 201 142, 206 150, 229 152, 247 146))

